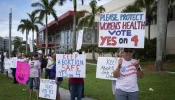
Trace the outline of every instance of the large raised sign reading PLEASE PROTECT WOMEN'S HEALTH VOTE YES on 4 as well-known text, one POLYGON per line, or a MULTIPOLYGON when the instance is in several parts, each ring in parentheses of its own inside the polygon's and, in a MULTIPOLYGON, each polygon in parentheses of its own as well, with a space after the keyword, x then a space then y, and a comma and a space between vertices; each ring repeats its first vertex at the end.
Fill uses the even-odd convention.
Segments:
POLYGON ((145 12, 101 13, 99 47, 144 48, 145 12))

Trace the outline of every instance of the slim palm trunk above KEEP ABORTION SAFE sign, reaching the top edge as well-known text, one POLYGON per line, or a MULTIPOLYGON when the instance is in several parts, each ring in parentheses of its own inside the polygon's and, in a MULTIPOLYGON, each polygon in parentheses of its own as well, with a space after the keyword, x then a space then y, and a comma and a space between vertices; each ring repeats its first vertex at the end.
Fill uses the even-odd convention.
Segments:
POLYGON ((76 13, 77 13, 77 1, 73 1, 74 4, 74 19, 73 19, 73 38, 72 38, 72 52, 76 51, 76 13))

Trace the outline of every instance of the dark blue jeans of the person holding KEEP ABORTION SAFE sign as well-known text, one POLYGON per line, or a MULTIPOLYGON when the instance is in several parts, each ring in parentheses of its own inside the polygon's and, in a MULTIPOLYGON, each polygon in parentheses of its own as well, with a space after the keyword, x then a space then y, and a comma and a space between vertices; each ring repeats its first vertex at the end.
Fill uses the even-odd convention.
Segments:
POLYGON ((75 100, 75 93, 77 92, 77 100, 81 100, 83 83, 70 83, 70 100, 75 100))

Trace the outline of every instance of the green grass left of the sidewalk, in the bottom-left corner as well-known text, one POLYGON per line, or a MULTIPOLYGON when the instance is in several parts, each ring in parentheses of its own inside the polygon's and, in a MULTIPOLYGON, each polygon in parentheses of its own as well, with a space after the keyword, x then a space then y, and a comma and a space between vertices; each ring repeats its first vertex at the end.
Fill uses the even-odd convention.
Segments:
MULTIPOLYGON (((0 100, 36 100, 35 91, 33 92, 32 99, 30 99, 29 89, 27 89, 27 86, 12 83, 13 79, 6 79, 6 76, 0 73, 0 100)), ((39 98, 39 100, 46 99, 39 98)))

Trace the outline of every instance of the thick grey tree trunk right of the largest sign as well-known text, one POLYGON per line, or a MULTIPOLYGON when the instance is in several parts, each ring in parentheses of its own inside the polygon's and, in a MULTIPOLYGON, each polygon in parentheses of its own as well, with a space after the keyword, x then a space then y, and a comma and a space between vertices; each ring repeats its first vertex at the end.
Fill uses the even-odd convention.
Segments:
POLYGON ((158 0, 156 70, 162 70, 162 54, 167 27, 168 0, 158 0))

